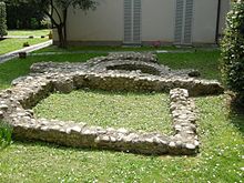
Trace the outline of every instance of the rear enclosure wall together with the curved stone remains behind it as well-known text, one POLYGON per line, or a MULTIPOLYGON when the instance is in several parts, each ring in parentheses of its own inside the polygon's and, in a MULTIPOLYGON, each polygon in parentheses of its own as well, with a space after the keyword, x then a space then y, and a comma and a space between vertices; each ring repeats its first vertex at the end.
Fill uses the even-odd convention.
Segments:
POLYGON ((171 70, 156 62, 156 57, 151 53, 111 53, 85 63, 34 63, 31 72, 33 75, 49 75, 61 92, 81 88, 169 92, 183 88, 195 96, 224 91, 217 81, 190 77, 199 75, 197 71, 171 70))

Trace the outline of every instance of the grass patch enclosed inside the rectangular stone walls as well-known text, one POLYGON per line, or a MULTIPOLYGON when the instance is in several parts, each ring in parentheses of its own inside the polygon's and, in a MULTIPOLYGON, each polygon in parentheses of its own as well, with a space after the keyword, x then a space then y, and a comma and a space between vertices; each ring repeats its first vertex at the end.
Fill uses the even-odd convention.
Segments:
POLYGON ((169 96, 164 93, 81 90, 70 94, 52 94, 41 101, 34 112, 38 118, 50 120, 169 134, 172 132, 169 105, 169 96))

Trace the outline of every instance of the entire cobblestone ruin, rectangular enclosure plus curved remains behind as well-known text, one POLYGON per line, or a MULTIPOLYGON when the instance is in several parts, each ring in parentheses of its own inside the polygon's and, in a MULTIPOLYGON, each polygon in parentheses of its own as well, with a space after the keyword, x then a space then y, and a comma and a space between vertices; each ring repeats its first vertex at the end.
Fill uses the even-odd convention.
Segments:
POLYGON ((161 65, 151 53, 111 53, 84 63, 34 63, 29 75, 14 80, 11 89, 0 93, 0 120, 12 126, 17 140, 141 154, 195 154, 200 144, 197 118, 190 96, 223 93, 218 82, 195 78, 199 75, 195 70, 161 65), (172 134, 37 119, 31 110, 52 92, 69 93, 84 88, 169 92, 172 134))

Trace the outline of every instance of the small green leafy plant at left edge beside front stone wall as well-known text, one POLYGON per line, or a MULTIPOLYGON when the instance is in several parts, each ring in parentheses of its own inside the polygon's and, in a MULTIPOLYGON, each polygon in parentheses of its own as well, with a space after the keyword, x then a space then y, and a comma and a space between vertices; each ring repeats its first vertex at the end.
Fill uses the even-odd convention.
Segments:
POLYGON ((12 128, 0 121, 0 148, 6 148, 11 143, 12 139, 12 128))

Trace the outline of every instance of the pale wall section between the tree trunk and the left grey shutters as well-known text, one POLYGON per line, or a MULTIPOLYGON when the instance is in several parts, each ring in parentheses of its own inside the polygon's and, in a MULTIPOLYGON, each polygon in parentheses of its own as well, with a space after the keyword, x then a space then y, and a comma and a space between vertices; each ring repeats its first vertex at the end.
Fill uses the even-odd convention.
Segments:
POLYGON ((67 27, 69 41, 122 41, 123 0, 102 0, 87 13, 70 10, 67 27))

